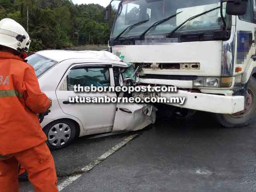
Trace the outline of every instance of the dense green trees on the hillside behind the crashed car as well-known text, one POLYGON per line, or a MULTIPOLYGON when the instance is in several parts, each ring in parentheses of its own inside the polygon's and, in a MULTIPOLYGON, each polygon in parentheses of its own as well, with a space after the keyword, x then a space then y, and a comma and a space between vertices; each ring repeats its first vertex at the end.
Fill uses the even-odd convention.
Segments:
POLYGON ((28 29, 32 51, 107 44, 111 22, 105 21, 105 11, 98 4, 74 5, 72 0, 0 0, 0 19, 14 19, 28 29))

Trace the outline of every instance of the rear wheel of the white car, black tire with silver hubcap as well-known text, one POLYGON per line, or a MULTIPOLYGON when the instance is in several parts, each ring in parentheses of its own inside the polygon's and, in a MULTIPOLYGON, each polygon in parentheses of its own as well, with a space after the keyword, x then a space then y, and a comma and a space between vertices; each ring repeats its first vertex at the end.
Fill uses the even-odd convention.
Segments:
POLYGON ((46 144, 49 149, 62 149, 76 137, 76 126, 72 120, 60 119, 53 121, 43 129, 47 137, 46 144))

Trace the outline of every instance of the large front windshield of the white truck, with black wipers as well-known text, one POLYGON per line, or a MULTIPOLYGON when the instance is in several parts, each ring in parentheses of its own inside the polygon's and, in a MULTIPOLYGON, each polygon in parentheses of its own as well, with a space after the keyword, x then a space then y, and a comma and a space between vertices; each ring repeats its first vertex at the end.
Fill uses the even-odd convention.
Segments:
MULTIPOLYGON (((226 3, 223 3, 223 16, 228 22, 230 17, 225 14, 225 5, 226 3)), ((116 38, 128 26, 149 19, 148 22, 126 30, 121 37, 141 35, 153 23, 181 12, 150 29, 145 35, 170 33, 186 19, 217 7, 220 7, 220 0, 123 0, 111 38, 116 38)), ((222 24, 220 9, 215 9, 185 23, 176 32, 220 30, 222 24)))

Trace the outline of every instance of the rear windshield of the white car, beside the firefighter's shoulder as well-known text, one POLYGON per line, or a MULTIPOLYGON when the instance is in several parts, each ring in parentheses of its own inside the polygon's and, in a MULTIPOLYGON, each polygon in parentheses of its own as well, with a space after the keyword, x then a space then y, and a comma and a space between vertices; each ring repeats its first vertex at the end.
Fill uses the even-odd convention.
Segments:
POLYGON ((53 61, 38 54, 29 56, 27 60, 27 63, 34 67, 37 77, 40 77, 58 63, 57 61, 53 61))

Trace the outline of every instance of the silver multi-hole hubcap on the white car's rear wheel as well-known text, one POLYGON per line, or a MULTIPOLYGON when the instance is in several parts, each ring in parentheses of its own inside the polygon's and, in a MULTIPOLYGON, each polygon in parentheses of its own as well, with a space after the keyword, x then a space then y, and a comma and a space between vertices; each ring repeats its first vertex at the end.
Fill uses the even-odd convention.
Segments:
POLYGON ((48 142, 59 147, 68 142, 71 136, 71 128, 66 123, 57 123, 52 126, 48 132, 48 142))

